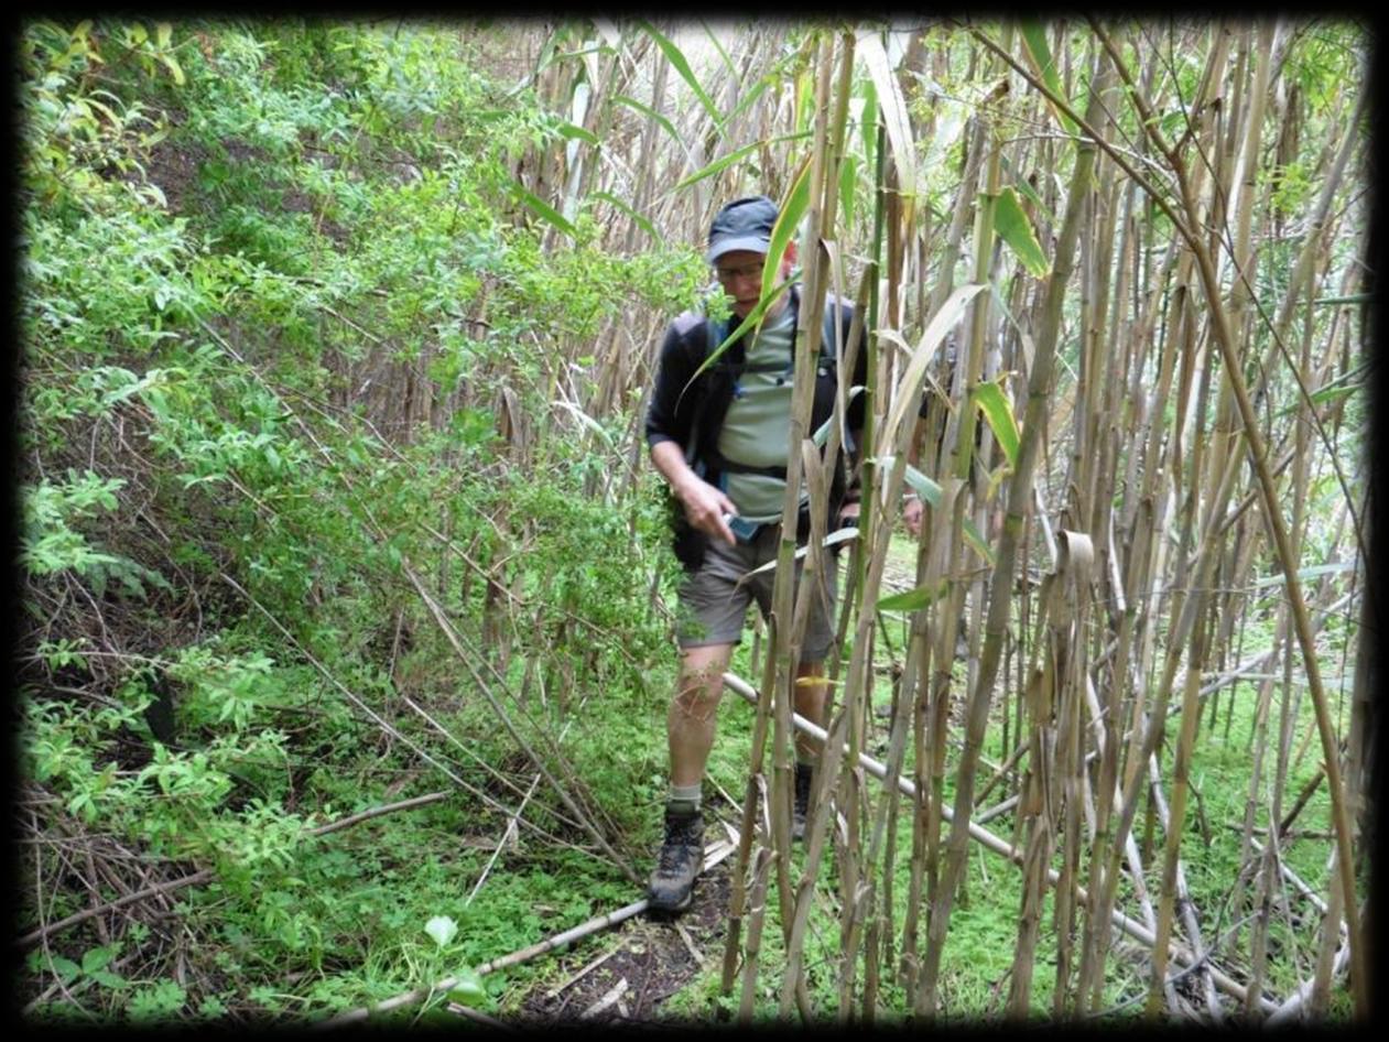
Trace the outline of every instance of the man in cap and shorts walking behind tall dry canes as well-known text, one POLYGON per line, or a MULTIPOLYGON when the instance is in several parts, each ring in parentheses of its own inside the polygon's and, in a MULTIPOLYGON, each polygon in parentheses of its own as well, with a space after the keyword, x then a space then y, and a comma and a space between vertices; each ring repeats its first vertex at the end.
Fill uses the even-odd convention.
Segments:
MULTIPOLYGON (((656 388, 646 418, 651 463, 672 493, 675 554, 685 567, 679 588, 676 639, 681 668, 667 711, 669 793, 665 803, 665 841, 650 881, 650 906, 682 911, 693 899, 694 878, 704 854, 700 782, 714 743, 715 710, 722 674, 743 632, 750 599, 765 617, 771 610, 775 570, 739 584, 747 572, 776 559, 782 504, 786 492, 786 453, 792 410, 793 345, 800 288, 792 286, 767 308, 761 328, 735 340, 693 383, 692 377, 738 324, 757 306, 763 264, 771 245, 776 204, 767 196, 728 203, 714 217, 707 260, 729 299, 732 318, 714 321, 686 311, 665 331, 656 388)), ((786 246, 779 281, 796 264, 795 242, 786 246)), ((807 436, 825 424, 835 404, 840 354, 856 357, 850 385, 863 386, 867 356, 863 338, 857 354, 846 343, 853 307, 825 303, 821 361, 817 367, 814 410, 807 436), (835 322, 840 322, 836 335, 835 322), (838 340, 838 349, 836 349, 838 340)), ((856 396, 846 411, 853 439, 846 445, 853 467, 833 464, 831 515, 826 529, 857 524, 857 439, 863 429, 864 399, 856 396)), ((797 542, 810 529, 808 492, 801 489, 797 542)), ((920 518, 920 504, 915 506, 920 518)), ((799 578, 801 563, 796 565, 799 578)), ((822 677, 822 663, 833 640, 838 561, 825 568, 828 603, 814 596, 801 646, 797 678, 822 677)), ((824 724, 824 682, 795 685, 795 710, 824 724)), ((814 778, 818 747, 796 732, 796 785, 792 834, 800 838, 814 778)))

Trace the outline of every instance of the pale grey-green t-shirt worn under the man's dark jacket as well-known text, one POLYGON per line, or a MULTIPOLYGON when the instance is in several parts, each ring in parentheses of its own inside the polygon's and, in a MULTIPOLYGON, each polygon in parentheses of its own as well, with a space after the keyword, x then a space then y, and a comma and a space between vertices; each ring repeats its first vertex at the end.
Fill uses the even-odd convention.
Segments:
MULTIPOLYGON (((792 310, 763 325, 747 349, 747 371, 738 381, 733 400, 718 435, 718 453, 746 467, 785 467, 790 438, 792 345, 796 324, 792 310)), ((747 521, 779 521, 786 496, 785 478, 767 474, 725 472, 725 492, 747 521)), ((801 486, 801 504, 808 499, 801 486)))

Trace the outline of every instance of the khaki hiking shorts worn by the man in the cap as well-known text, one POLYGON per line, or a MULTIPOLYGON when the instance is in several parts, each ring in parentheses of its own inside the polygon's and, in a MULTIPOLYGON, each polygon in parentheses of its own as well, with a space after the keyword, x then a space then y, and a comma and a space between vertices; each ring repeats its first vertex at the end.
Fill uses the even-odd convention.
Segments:
MULTIPOLYGON (((751 600, 757 602, 763 618, 771 614, 776 570, 768 568, 740 585, 739 579, 753 568, 775 561, 779 542, 779 524, 763 525, 750 543, 739 542, 736 546, 729 546, 722 539, 708 540, 703 564, 693 572, 686 572, 681 582, 675 634, 681 647, 739 643, 743 639, 743 622, 751 600)), ((810 602, 801 661, 822 661, 835 639, 832 620, 839 589, 839 560, 826 553, 824 561, 825 590, 813 596, 810 602)), ((796 561, 797 585, 803 564, 804 560, 796 561)))

